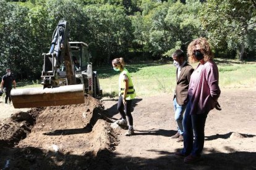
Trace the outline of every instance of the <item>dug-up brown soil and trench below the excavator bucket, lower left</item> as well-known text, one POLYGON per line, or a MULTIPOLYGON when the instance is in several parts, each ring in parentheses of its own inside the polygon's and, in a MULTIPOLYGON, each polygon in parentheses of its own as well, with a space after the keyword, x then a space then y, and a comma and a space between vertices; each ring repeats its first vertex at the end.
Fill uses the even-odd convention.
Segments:
POLYGON ((90 96, 15 113, 0 124, 0 169, 108 169, 116 136, 104 114, 90 96))

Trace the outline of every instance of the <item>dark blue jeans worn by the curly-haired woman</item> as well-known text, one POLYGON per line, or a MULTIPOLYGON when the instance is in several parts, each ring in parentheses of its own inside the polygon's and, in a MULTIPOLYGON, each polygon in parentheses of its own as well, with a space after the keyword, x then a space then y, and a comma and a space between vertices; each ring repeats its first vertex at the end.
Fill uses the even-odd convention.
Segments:
POLYGON ((200 156, 205 142, 205 121, 207 119, 208 112, 198 115, 190 115, 190 110, 189 101, 183 118, 184 148, 181 153, 184 155, 200 156), (193 140, 194 135, 195 140, 193 140))

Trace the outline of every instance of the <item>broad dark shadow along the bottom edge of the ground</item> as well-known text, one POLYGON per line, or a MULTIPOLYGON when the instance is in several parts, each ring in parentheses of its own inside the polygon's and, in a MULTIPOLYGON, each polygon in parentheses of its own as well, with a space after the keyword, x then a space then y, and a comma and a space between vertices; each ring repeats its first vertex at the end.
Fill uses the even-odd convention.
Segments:
POLYGON ((211 150, 195 164, 174 158, 173 153, 150 150, 158 158, 123 157, 109 150, 95 154, 40 150, 40 148, 1 148, 0 169, 256 169, 255 152, 218 153, 211 150))

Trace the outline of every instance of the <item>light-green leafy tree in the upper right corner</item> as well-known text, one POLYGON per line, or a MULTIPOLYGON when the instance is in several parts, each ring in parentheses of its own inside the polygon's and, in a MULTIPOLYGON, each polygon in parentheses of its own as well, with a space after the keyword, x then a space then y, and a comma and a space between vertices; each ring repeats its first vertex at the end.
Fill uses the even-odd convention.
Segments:
POLYGON ((237 49, 239 59, 243 60, 251 44, 249 35, 255 32, 255 14, 252 0, 208 0, 200 15, 213 47, 237 49))

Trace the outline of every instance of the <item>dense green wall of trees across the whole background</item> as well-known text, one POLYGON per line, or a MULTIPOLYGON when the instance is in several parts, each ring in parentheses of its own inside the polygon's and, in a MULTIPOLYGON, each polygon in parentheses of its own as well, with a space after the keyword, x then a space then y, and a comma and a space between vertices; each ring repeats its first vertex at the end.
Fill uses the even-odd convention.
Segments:
POLYGON ((83 41, 93 65, 169 58, 192 39, 210 39, 217 57, 255 59, 256 1, 249 0, 0 0, 0 73, 40 78, 59 20, 70 41, 83 41))

